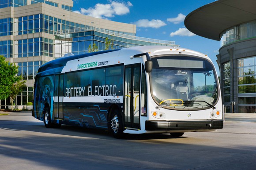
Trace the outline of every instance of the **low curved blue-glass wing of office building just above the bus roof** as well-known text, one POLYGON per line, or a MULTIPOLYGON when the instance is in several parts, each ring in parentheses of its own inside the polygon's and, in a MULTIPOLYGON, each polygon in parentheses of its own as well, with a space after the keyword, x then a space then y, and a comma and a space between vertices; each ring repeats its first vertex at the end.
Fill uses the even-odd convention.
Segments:
MULTIPOLYGON (((75 55, 87 53, 88 47, 92 47, 94 43, 98 47, 98 51, 104 51, 106 50, 106 37, 108 37, 108 41, 110 42, 109 50, 143 45, 167 45, 112 36, 98 31, 83 31, 56 35, 54 38, 55 58, 60 58, 67 53, 73 53, 75 55)), ((173 46, 176 47, 177 45, 173 44, 173 46)))

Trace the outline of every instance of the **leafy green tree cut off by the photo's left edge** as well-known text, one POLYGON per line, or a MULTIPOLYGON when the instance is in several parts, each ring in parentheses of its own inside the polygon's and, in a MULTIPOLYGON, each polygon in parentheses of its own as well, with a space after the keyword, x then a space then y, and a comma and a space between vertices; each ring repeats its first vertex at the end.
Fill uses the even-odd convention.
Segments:
POLYGON ((18 66, 0 56, 0 100, 7 99, 11 94, 12 85, 22 79, 21 76, 15 76, 17 72, 18 66))

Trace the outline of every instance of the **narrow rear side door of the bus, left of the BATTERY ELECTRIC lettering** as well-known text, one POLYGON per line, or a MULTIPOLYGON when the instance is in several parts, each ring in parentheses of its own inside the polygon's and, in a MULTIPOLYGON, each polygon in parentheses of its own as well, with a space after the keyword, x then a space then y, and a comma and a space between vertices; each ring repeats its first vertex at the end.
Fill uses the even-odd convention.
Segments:
POLYGON ((55 75, 54 119, 63 119, 63 83, 64 74, 55 75))

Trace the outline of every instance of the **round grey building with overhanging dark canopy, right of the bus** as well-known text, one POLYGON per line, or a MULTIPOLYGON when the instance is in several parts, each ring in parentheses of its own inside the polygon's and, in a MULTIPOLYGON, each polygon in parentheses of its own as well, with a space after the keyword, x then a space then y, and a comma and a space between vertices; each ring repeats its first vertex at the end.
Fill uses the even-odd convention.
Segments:
POLYGON ((192 33, 221 43, 217 63, 226 112, 256 112, 255 8, 255 0, 217 0, 185 18, 192 33))

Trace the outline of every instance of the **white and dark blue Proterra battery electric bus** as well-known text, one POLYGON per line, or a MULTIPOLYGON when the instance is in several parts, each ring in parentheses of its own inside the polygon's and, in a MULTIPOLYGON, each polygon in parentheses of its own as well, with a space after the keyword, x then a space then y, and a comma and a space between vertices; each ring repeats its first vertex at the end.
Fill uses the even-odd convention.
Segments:
POLYGON ((68 124, 124 133, 223 128, 215 67, 207 55, 140 46, 59 58, 42 65, 32 116, 45 127, 68 124))

